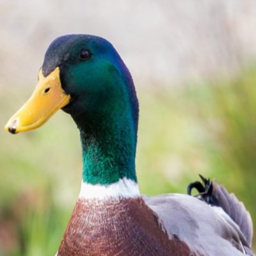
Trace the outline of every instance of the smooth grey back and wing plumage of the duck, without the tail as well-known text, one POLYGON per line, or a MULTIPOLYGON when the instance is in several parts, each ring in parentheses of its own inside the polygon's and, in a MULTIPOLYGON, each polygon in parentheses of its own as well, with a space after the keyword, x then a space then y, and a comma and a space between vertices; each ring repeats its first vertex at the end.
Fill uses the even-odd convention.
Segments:
POLYGON ((197 198, 170 194, 144 199, 156 212, 170 238, 179 237, 196 255, 245 254, 236 229, 197 198))

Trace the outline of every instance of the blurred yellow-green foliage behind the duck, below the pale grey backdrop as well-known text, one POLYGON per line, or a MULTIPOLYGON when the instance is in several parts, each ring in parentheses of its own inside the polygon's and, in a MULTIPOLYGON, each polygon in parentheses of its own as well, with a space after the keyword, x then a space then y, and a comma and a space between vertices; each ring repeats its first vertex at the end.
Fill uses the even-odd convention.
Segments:
MULTIPOLYGON (((186 193, 201 173, 236 193, 256 223, 255 71, 228 81, 138 89, 142 193, 186 193)), ((29 94, 20 87, 1 93, 1 127, 29 94)), ((60 111, 37 131, 1 130, 0 141, 0 255, 54 255, 79 193, 76 125, 60 111)))

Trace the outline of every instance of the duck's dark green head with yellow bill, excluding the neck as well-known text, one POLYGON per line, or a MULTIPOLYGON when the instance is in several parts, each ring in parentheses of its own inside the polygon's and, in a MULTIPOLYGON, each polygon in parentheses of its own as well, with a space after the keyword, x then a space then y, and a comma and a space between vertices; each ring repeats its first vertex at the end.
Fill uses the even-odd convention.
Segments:
POLYGON ((13 134, 36 129, 58 109, 90 126, 115 108, 131 108, 132 121, 138 124, 134 84, 118 52, 99 36, 66 35, 47 49, 33 95, 5 129, 13 134))

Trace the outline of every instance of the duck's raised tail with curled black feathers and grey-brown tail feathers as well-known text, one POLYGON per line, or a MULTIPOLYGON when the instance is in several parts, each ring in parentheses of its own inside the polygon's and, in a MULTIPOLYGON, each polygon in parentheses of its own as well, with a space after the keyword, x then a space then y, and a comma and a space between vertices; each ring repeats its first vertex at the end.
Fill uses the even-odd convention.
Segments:
POLYGON ((196 188, 199 192, 197 197, 200 200, 205 201, 207 204, 221 207, 240 228, 248 245, 252 246, 252 218, 250 213, 246 211, 244 204, 239 202, 233 193, 229 194, 227 189, 219 185, 216 180, 211 182, 210 179, 205 179, 201 175, 200 177, 204 184, 198 181, 189 184, 188 194, 191 195, 192 189, 196 188))

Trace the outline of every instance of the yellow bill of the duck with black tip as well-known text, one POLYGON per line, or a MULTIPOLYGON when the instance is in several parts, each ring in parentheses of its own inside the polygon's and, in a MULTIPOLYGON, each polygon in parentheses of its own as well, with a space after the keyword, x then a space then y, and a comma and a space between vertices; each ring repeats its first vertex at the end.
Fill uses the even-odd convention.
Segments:
POLYGON ((36 129, 69 101, 70 95, 61 88, 60 68, 55 68, 47 77, 41 69, 35 91, 4 128, 13 134, 36 129))

